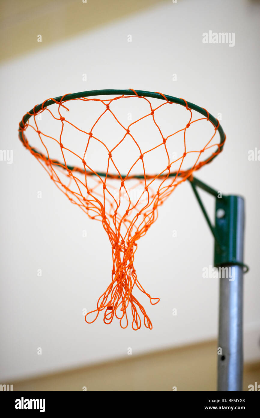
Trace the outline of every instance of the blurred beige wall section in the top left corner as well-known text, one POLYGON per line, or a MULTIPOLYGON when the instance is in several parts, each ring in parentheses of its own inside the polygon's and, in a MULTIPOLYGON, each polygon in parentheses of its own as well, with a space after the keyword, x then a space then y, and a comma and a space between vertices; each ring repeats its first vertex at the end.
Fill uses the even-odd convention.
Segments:
POLYGON ((163 1, 165 0, 2 2, 0 35, 5 42, 0 45, 0 60, 43 48, 53 42, 64 41, 77 33, 91 31, 163 1))

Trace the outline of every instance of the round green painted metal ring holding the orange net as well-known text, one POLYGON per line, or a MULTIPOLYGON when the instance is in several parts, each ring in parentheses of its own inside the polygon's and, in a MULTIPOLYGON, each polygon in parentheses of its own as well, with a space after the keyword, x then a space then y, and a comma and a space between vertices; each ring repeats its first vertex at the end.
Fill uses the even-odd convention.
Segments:
MULTIPOLYGON (((143 90, 135 90, 135 91, 139 96, 152 97, 154 99, 165 100, 164 97, 161 94, 156 93, 156 92, 146 92, 146 91, 143 91, 143 90)), ((81 97, 102 96, 102 95, 103 96, 106 96, 106 95, 121 95, 121 94, 132 96, 132 95, 134 95, 134 92, 130 89, 128 89, 128 90, 127 89, 89 90, 89 91, 86 91, 86 92, 78 92, 78 93, 66 94, 65 96, 55 97, 54 100, 56 100, 57 102, 66 102, 68 100, 79 99, 81 97)), ((179 99, 177 97, 169 96, 167 94, 165 94, 165 97, 167 98, 167 100, 169 100, 169 102, 180 104, 180 105, 186 107, 186 103, 184 102, 183 99, 179 99)), ((30 119, 30 117, 34 113, 39 112, 39 110, 42 109, 42 107, 45 108, 47 106, 50 106, 51 104, 54 104, 55 103, 54 100, 52 100, 52 99, 47 100, 46 102, 43 102, 43 103, 38 104, 37 106, 35 106, 34 109, 31 109, 30 112, 28 112, 28 113, 30 113, 30 115, 26 114, 25 117, 23 118, 23 120, 21 120, 21 122, 19 123, 19 129, 23 128, 25 126, 26 122, 30 119)), ((187 105, 190 109, 199 112, 201 115, 203 115, 205 117, 208 116, 206 110, 203 109, 202 107, 197 106, 196 104, 193 104, 193 103, 190 103, 190 102, 187 102, 187 105)), ((225 133, 222 129, 222 126, 219 124, 218 120, 214 116, 212 116, 210 113, 209 113, 209 120, 213 123, 213 125, 215 127, 218 126, 217 130, 218 130, 218 133, 220 135, 220 144, 222 144, 221 147, 220 147, 220 150, 222 150, 224 142, 225 142, 225 133)), ((25 138, 23 137, 23 135, 24 135, 23 132, 20 131, 19 132, 19 138, 23 143, 25 143, 25 138)), ((33 151, 35 153, 39 154, 39 155, 43 155, 38 150, 36 150, 34 148, 33 148, 33 151)), ((216 155, 212 155, 212 157, 209 158, 207 163, 210 163, 210 161, 212 161, 215 157, 216 157, 216 155)), ((45 158, 47 158, 47 157, 45 156, 45 158)), ((63 165, 63 163, 60 163, 58 161, 57 161, 57 163, 61 164, 61 166, 66 168, 63 165)), ((68 168, 69 168, 69 170, 73 170, 74 167, 73 166, 68 166, 68 168)), ((95 175, 91 171, 89 171, 88 174, 95 175)), ((103 173, 103 172, 102 173, 97 173, 97 174, 99 176, 106 176, 106 173, 103 173)), ((176 172, 170 173, 169 176, 170 177, 176 176, 176 174, 177 174, 176 172)), ((107 177, 110 177, 110 176, 107 176, 107 177)), ((113 177, 114 177, 114 175, 113 175, 113 177)), ((124 177, 125 176, 122 175, 122 178, 124 178, 124 177)), ((141 175, 141 174, 136 175, 136 176, 134 176, 134 178, 144 178, 144 175, 141 175)))

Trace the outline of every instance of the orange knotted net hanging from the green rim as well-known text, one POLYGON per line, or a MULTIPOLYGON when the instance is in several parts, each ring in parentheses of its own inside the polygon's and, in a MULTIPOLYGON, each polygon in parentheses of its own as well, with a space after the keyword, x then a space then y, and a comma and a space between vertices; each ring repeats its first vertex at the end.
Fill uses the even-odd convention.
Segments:
MULTIPOLYGON (((60 102, 51 99, 57 104, 55 111, 50 111, 45 107, 46 100, 38 112, 35 112, 34 108, 33 114, 27 113, 32 116, 30 123, 27 121, 23 127, 20 125, 23 144, 38 159, 58 189, 73 204, 79 206, 88 217, 101 222, 109 237, 113 262, 111 281, 106 291, 98 299, 96 309, 86 315, 85 320, 88 323, 94 322, 98 314, 103 311, 105 324, 110 324, 115 316, 119 319, 121 327, 126 328, 128 325, 127 308, 130 304, 132 328, 134 330, 140 328, 140 315, 142 315, 144 325, 152 329, 151 321, 144 307, 133 295, 133 291, 139 289, 148 296, 152 305, 159 302, 159 298, 152 298, 137 279, 134 269, 137 241, 155 222, 158 206, 163 204, 176 186, 192 176, 193 171, 202 167, 212 159, 212 155, 217 155, 221 150, 220 143, 215 143, 216 141, 213 140, 218 126, 209 121, 208 112, 206 111, 207 117, 199 115, 200 117, 194 119, 192 110, 185 100, 183 100, 184 106, 178 105, 185 112, 184 125, 172 132, 170 131, 172 125, 169 123, 167 125, 169 132, 164 133, 159 126, 160 117, 157 120, 156 115, 161 112, 163 107, 171 106, 172 102, 169 102, 163 94, 162 97, 165 101, 153 107, 151 100, 139 96, 134 90, 133 95, 119 95, 112 99, 81 97, 66 100, 65 95, 60 102), (141 116, 138 115, 134 121, 123 123, 115 115, 114 104, 119 103, 121 106, 122 100, 130 99, 144 101, 145 112, 141 116), (86 112, 83 111, 83 120, 80 115, 81 122, 72 122, 66 113, 69 111, 69 103, 73 108, 75 108, 75 103, 85 106, 88 104, 98 105, 98 117, 95 117, 94 122, 88 120, 91 114, 91 110, 88 109, 86 112), (52 135, 42 132, 40 125, 43 112, 47 113, 48 120, 51 118, 55 122, 55 125, 52 126, 54 131, 52 135), (111 120, 113 123, 116 122, 118 130, 115 127, 111 132, 111 120), (141 138, 137 139, 136 127, 144 121, 153 124, 156 133, 154 135, 157 135, 153 144, 151 140, 153 135, 146 138, 144 127, 141 128, 141 138), (187 130, 195 122, 205 121, 210 125, 211 133, 207 140, 204 140, 204 146, 199 150, 194 150, 192 141, 187 138, 187 130), (106 125, 104 131, 98 130, 101 125, 102 127, 106 125), (25 130, 27 135, 29 130, 34 134, 35 141, 38 141, 38 148, 29 145, 25 137, 25 130), (109 132, 112 138, 111 142, 107 137, 109 132), (173 148, 171 148, 174 138, 177 137, 182 141, 179 154, 172 152, 173 148), (69 140, 68 145, 65 143, 67 139, 69 140), (144 144, 142 139, 145 139, 144 144), (126 149, 122 153, 121 147, 124 143, 126 143, 126 149), (152 145, 149 145, 150 143, 152 145), (128 153, 128 148, 131 147, 133 152, 128 153), (210 151, 210 156, 201 161, 201 155, 205 155, 205 152, 212 147, 215 148, 213 154, 210 151), (76 151, 77 149, 78 151, 76 151), (52 153, 57 155, 57 152, 60 153, 60 161, 52 158, 52 153), (153 157, 148 162, 149 153, 152 153, 153 157), (158 155, 159 157, 157 157, 158 155), (184 160, 188 156, 192 157, 193 162, 189 166, 191 168, 185 169, 184 160), (126 157, 133 158, 133 161, 124 163, 124 160, 127 160, 126 157), (96 165, 94 165, 95 158, 96 165), (153 164, 155 167, 155 163, 158 163, 159 171, 156 174, 147 172, 146 160, 151 167, 153 164), (103 172, 98 171, 98 165, 99 168, 105 167, 103 172), (93 314, 94 319, 88 320, 89 314, 93 314)), ((77 120, 77 112, 75 115, 77 120)))

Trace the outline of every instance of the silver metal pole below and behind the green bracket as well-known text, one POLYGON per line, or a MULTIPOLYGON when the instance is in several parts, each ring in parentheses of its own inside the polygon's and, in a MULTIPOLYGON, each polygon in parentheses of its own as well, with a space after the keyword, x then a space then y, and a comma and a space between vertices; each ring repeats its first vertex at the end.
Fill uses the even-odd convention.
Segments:
MULTIPOLYGON (((236 222, 233 224, 235 234, 236 260, 243 263, 244 249, 244 199, 237 196, 237 207, 234 213, 236 222)), ((222 265, 229 268, 229 276, 225 277, 222 270, 220 278, 220 311, 218 347, 218 382, 217 390, 242 390, 243 382, 243 267, 242 265, 222 265)), ((227 271, 227 270, 226 270, 227 271)))

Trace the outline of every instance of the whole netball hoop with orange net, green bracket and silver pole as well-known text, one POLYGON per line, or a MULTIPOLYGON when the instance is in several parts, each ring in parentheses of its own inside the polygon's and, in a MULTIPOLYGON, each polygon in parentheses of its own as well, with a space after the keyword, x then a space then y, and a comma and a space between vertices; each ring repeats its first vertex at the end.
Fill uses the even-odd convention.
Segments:
POLYGON ((202 107, 159 92, 92 90, 36 105, 23 116, 19 138, 58 189, 101 222, 111 243, 111 281, 86 315, 88 323, 103 313, 105 324, 119 319, 126 328, 131 311, 134 330, 142 317, 152 329, 135 293, 146 294, 151 304, 159 298, 152 298, 137 278, 137 242, 156 221, 159 206, 189 180, 215 237, 215 266, 230 267, 234 277, 220 278, 218 389, 242 390, 244 201, 218 199, 217 191, 194 178, 222 151, 225 133, 219 121, 202 107), (56 105, 52 110, 51 104, 56 105), (197 187, 216 197, 215 226, 197 187))

